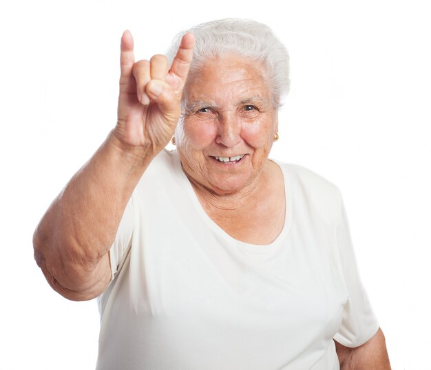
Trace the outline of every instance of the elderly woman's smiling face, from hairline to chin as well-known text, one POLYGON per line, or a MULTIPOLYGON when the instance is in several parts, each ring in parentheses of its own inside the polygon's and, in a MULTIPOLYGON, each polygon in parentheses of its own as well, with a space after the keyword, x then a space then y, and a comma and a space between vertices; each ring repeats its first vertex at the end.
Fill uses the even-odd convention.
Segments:
POLYGON ((230 54, 207 61, 187 82, 176 144, 192 184, 223 195, 260 181, 277 132, 277 109, 262 70, 230 54))

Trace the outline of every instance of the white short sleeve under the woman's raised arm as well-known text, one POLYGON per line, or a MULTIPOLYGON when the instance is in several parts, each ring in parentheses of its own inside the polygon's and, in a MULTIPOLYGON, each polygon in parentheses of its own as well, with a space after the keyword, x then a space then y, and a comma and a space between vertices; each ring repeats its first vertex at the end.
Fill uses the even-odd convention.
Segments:
POLYGON ((116 272, 123 264, 127 250, 132 243, 132 235, 134 230, 134 207, 133 196, 127 202, 127 206, 121 218, 120 225, 116 233, 114 243, 109 249, 109 263, 111 264, 112 277, 114 279, 116 272))

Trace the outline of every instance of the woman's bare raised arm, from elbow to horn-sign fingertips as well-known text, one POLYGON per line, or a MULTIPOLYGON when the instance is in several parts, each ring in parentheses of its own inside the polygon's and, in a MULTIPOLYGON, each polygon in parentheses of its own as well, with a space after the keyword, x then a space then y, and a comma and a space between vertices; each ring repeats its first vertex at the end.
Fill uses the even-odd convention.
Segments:
POLYGON ((135 63, 132 35, 123 34, 116 127, 34 232, 34 258, 66 298, 91 299, 109 284, 109 248, 145 168, 174 133, 193 44, 186 34, 169 71, 165 56, 135 63))

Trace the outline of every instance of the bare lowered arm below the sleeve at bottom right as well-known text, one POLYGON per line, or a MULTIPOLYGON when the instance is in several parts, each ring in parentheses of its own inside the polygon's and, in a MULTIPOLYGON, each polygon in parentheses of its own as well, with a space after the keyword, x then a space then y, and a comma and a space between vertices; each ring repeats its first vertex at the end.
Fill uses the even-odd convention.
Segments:
POLYGON ((390 370, 385 336, 377 333, 363 345, 349 348, 335 341, 341 370, 390 370))

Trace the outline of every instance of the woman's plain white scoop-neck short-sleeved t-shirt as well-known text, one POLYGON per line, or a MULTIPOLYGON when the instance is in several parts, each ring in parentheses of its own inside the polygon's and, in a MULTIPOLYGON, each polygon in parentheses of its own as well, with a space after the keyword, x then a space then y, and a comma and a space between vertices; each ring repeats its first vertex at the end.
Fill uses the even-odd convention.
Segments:
POLYGON ((278 165, 284 228, 256 246, 204 212, 176 151, 151 162, 109 253, 97 369, 332 370, 333 338, 376 333, 339 191, 278 165))

